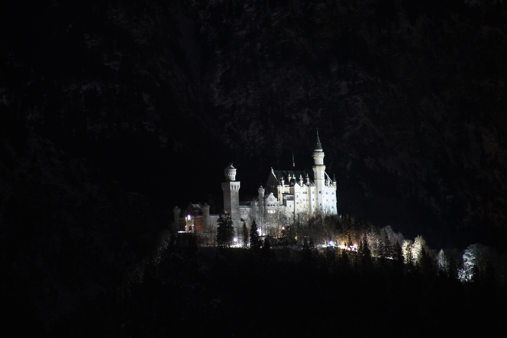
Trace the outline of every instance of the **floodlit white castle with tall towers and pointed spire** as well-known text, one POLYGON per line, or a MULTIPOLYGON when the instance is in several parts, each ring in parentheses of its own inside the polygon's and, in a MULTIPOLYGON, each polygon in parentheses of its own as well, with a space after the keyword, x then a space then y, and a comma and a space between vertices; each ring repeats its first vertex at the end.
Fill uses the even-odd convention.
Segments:
MULTIPOLYGON (((294 161, 293 161, 294 162, 294 161)), ((325 172, 324 151, 317 132, 313 151, 312 170, 273 170, 269 173, 266 189, 261 185, 258 197, 239 201, 241 182, 236 181, 236 168, 232 164, 224 169, 226 181, 224 213, 230 215, 239 234, 243 223, 249 227, 255 219, 261 234, 273 233, 292 224, 295 217, 310 217, 315 213, 337 214, 336 178, 325 172)), ((209 205, 189 204, 182 213, 174 208, 174 231, 214 233, 219 215, 209 214, 209 205)))

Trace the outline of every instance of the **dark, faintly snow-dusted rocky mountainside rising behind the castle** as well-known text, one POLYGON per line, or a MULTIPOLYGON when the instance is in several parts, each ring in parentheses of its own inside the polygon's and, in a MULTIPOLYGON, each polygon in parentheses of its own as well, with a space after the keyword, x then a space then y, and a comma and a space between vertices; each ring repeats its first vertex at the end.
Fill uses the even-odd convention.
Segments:
POLYGON ((311 165, 319 128, 342 213, 439 246, 505 238, 502 2, 11 6, 3 110, 157 210, 220 194, 229 161, 254 195, 292 154, 311 165))

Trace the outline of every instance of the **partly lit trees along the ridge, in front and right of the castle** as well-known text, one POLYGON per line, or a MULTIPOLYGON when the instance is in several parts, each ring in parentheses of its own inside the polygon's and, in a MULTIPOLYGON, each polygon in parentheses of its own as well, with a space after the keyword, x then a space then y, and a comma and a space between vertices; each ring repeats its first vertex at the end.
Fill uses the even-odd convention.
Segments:
MULTIPOLYGON (((234 234, 231 217, 221 215, 217 229, 219 246, 230 247, 234 234)), ((240 241, 243 247, 252 250, 271 246, 269 241, 261 240, 255 220, 249 227, 243 222, 240 241)), ((462 254, 456 249, 437 251, 429 248, 422 236, 405 239, 390 226, 380 229, 369 221, 349 215, 298 214, 294 222, 286 223, 279 234, 279 245, 288 243, 303 251, 311 248, 315 257, 324 252, 329 256, 333 252, 337 261, 345 259, 352 266, 359 262, 381 267, 389 265, 405 272, 418 270, 425 274, 444 274, 462 282, 487 285, 503 285, 507 281, 505 259, 492 248, 473 244, 462 254)))

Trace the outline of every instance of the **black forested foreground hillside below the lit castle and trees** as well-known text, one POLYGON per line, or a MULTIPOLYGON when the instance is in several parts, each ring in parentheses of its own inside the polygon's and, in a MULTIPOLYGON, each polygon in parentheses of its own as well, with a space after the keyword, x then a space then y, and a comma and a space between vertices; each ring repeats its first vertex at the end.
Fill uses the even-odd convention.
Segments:
MULTIPOLYGON (((506 333, 505 289, 461 283, 431 261, 305 245, 177 248, 168 235, 94 312, 58 327, 88 336, 506 333)), ((55 332, 56 333, 56 332, 55 332)))

